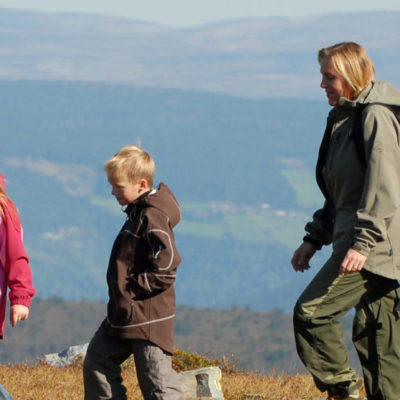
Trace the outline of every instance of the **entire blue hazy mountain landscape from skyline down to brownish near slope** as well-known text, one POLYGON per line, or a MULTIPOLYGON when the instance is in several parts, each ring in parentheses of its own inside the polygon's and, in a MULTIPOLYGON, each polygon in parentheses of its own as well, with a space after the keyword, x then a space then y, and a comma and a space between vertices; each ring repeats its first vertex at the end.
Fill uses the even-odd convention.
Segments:
POLYGON ((105 300, 124 215, 103 164, 141 143, 182 203, 179 304, 290 310, 314 271, 289 260, 322 202, 316 52, 359 41, 400 83, 400 13, 173 29, 0 9, 0 38, 0 172, 45 298, 105 300))

